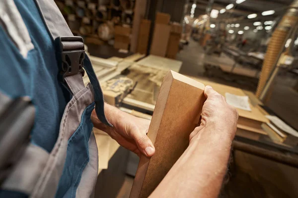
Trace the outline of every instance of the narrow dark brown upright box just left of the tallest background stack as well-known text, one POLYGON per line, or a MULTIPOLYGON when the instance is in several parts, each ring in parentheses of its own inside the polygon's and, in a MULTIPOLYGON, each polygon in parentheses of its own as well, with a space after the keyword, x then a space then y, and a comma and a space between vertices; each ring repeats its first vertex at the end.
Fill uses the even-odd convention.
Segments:
POLYGON ((151 21, 142 19, 139 30, 137 52, 146 54, 150 34, 151 21))

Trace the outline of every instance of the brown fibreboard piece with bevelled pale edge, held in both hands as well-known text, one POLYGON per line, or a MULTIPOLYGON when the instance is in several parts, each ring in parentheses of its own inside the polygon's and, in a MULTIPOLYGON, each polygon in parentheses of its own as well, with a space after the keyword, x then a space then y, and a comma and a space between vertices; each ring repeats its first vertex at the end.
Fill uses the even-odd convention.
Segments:
POLYGON ((204 87, 173 71, 164 77, 148 132, 156 152, 141 157, 130 198, 147 198, 188 147, 205 101, 204 87))

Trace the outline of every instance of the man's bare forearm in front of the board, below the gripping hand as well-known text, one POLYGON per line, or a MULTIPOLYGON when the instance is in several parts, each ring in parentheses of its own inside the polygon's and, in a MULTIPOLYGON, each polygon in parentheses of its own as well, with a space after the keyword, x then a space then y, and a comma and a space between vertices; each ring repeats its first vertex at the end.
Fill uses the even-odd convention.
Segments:
POLYGON ((226 172, 232 138, 204 130, 192 140, 150 198, 218 196, 226 172))

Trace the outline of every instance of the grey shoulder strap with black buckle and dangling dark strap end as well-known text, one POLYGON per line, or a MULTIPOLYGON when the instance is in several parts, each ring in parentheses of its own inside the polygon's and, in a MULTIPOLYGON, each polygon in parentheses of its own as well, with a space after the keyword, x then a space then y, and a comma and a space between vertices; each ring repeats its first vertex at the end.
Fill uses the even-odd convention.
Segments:
POLYGON ((83 66, 93 87, 97 117, 102 123, 112 126, 105 117, 103 93, 91 61, 84 52, 83 39, 81 37, 74 37, 54 0, 35 1, 53 41, 60 47, 60 53, 57 53, 57 59, 62 64, 61 67, 64 73, 62 80, 65 80, 72 94, 76 94, 84 88, 82 80, 83 66), (77 64, 77 67, 69 64, 70 62, 77 64))

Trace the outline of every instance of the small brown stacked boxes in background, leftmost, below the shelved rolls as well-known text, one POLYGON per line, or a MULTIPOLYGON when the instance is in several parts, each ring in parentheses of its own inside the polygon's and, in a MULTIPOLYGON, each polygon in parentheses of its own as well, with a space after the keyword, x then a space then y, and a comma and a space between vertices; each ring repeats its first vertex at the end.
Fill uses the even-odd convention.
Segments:
POLYGON ((131 28, 129 26, 115 26, 115 43, 116 49, 129 49, 131 28))

